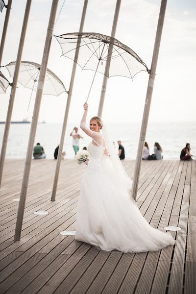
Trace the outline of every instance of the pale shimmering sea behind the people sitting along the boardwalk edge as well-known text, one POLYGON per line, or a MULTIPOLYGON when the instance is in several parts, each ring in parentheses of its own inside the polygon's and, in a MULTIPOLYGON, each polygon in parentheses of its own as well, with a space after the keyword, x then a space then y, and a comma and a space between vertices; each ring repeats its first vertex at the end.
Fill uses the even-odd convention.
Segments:
MULTIPOLYGON (((4 132, 4 124, 0 124, 0 147, 4 132)), ((66 158, 73 159, 72 137, 70 133, 76 125, 68 124, 63 150, 66 158)), ((117 141, 122 141, 125 149, 125 159, 136 159, 141 123, 108 123, 107 129, 111 140, 114 141, 118 150, 117 141)), ((39 123, 35 138, 35 144, 40 143, 44 147, 48 159, 52 159, 54 149, 58 146, 61 137, 62 124, 39 123)), ((30 133, 29 124, 11 124, 6 158, 25 158, 28 138, 30 133)), ((80 149, 88 146, 91 139, 79 129, 80 149)), ((158 142, 163 149, 163 159, 179 159, 180 151, 186 143, 191 144, 191 153, 196 155, 196 122, 150 122, 147 127, 146 141, 150 154, 153 153, 154 143, 158 142)))

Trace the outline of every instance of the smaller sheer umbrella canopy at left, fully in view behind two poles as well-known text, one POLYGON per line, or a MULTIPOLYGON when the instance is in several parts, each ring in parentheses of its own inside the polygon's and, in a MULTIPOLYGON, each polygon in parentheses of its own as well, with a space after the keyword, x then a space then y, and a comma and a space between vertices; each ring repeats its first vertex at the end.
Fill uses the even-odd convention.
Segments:
MULTIPOLYGON (((14 76, 16 62, 12 61, 5 67, 10 76, 14 76)), ((25 88, 36 91, 39 79, 41 65, 31 61, 21 61, 20 74, 18 81, 25 88)), ((47 69, 43 94, 59 96, 61 93, 67 92, 63 82, 52 71, 47 69)))

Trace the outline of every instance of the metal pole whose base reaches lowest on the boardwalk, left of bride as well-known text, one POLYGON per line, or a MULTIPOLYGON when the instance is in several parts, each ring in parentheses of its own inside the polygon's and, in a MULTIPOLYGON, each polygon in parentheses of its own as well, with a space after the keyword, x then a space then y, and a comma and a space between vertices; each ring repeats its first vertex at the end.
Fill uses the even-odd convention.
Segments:
POLYGON ((21 187, 21 196, 20 196, 20 202, 19 202, 19 208, 18 208, 14 241, 19 241, 21 238, 21 230, 22 230, 24 210, 25 210, 25 201, 26 201, 26 194, 27 194, 27 188, 28 188, 28 179, 30 174, 33 145, 35 141, 35 134, 36 134, 37 123, 39 118, 39 111, 40 111, 44 81, 45 81, 45 76, 47 71, 49 50, 50 50, 50 45, 51 45, 51 40, 53 35, 53 28, 54 28, 57 6, 58 6, 58 0, 52 0, 52 6, 51 6, 50 16, 49 16, 49 25, 47 30, 43 57, 42 57, 42 64, 41 64, 39 81, 37 86, 30 135, 28 139, 28 147, 27 147, 26 160, 25 160, 25 170, 23 174, 23 182, 21 187))

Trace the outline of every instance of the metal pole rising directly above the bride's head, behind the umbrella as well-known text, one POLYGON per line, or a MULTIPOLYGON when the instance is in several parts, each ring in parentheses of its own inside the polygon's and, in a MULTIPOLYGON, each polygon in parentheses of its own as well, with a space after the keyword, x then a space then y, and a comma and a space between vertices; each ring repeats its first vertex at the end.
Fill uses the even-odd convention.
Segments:
MULTIPOLYGON (((117 0, 115 14, 114 14, 114 20, 113 20, 113 25, 112 25, 112 32, 111 32, 112 38, 114 38, 115 34, 116 34, 116 28, 117 28, 117 23, 118 23, 118 18, 119 18, 120 7, 121 7, 121 0, 117 0)), ((107 81, 108 81, 108 76, 109 76, 112 49, 113 49, 113 47, 109 46, 109 49, 108 49, 109 58, 107 59, 106 65, 105 65, 105 72, 104 72, 101 95, 100 95, 99 106, 98 106, 98 116, 99 117, 102 116, 102 111, 103 111, 103 103, 104 103, 105 91, 106 91, 107 81)))

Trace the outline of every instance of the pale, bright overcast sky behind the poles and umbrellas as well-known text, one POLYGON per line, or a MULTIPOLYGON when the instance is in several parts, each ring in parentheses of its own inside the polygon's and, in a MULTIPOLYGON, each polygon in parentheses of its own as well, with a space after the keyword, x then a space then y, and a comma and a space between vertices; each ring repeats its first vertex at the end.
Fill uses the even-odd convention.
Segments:
MULTIPOLYGON (((7 1, 5 1, 6 3, 7 1)), ((2 65, 16 60, 25 12, 25 0, 12 1, 2 65)), ((57 16, 64 0, 59 0, 57 16)), ((32 0, 22 60, 41 63, 52 0, 32 0)), ((83 0, 65 0, 54 28, 54 35, 79 31, 83 0)), ((116 38, 133 49, 150 69, 160 0, 122 0, 116 38)), ((84 32, 111 34, 116 0, 89 0, 84 32)), ((0 14, 0 35, 6 9, 0 14)), ((150 122, 196 122, 196 2, 168 1, 156 77, 149 114, 150 122)), ((69 90, 73 61, 61 56, 61 48, 53 37, 48 68, 69 90)), ((1 68, 9 76, 5 68, 1 68)), ((77 124, 83 113, 94 73, 77 67, 69 123, 77 124)), ((141 72, 133 81, 126 77, 108 80, 102 118, 107 122, 141 122, 149 74, 141 72)), ((11 78, 8 78, 11 82, 11 78)), ((89 98, 89 118, 97 115, 103 75, 97 74, 89 98)), ((18 84, 12 120, 31 120, 35 93, 18 84)), ((6 119, 10 88, 0 94, 0 121, 6 119)), ((62 123, 67 94, 44 95, 39 121, 62 123)))

